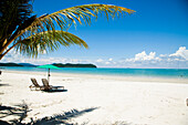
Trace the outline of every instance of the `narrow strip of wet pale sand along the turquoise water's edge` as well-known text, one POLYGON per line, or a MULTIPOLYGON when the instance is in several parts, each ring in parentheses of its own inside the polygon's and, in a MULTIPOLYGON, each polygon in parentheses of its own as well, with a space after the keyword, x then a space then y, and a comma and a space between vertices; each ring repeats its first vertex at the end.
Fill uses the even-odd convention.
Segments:
MULTIPOLYGON (((46 75, 46 71, 15 71, 15 70, 4 70, 6 73, 28 73, 28 74, 40 74, 46 75)), ((113 74, 86 74, 86 73, 63 73, 63 72, 51 72, 52 76, 54 75, 72 75, 74 77, 87 76, 93 79, 111 79, 118 81, 129 81, 129 82, 159 82, 159 83, 182 83, 188 84, 187 77, 167 77, 167 76, 123 76, 123 75, 113 75, 113 74)))

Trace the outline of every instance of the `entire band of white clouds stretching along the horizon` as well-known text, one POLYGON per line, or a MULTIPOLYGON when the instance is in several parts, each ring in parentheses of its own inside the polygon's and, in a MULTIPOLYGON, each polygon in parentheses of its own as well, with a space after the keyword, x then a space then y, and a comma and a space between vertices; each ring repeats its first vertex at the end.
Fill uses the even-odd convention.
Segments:
POLYGON ((112 66, 112 67, 186 67, 188 69, 188 50, 186 46, 180 46, 175 53, 159 54, 156 52, 146 51, 135 54, 134 58, 124 60, 96 59, 96 60, 80 60, 80 59, 65 59, 65 58, 43 58, 30 59, 22 56, 14 51, 8 53, 1 62, 15 62, 15 63, 33 63, 33 64, 50 64, 50 63, 93 63, 97 66, 112 66))

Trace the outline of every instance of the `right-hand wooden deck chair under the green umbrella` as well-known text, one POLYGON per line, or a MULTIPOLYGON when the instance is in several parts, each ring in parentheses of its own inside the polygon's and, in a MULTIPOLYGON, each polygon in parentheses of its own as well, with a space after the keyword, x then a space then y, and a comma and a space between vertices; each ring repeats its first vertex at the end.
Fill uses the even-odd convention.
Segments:
POLYGON ((42 83, 43 83, 44 91, 56 91, 60 87, 64 90, 64 86, 49 85, 49 81, 46 79, 42 79, 42 83))

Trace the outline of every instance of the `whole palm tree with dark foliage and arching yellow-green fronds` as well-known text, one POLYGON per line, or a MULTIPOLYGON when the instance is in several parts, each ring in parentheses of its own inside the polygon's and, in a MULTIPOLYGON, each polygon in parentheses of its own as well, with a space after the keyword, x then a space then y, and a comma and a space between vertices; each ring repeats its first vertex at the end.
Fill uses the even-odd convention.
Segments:
POLYGON ((98 14, 108 19, 135 12, 123 7, 95 3, 36 17, 32 11, 32 2, 33 0, 0 1, 0 60, 13 48, 32 58, 54 51, 60 45, 87 48, 86 42, 67 32, 72 24, 91 24, 92 17, 97 19, 98 14))

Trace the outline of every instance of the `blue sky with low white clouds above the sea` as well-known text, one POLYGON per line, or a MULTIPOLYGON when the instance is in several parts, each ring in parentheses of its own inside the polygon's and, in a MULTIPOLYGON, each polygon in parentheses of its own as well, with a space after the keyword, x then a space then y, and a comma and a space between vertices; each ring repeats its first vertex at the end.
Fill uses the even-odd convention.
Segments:
POLYGON ((88 3, 115 4, 136 12, 109 21, 100 17, 97 21, 93 20, 91 27, 71 28, 71 33, 87 42, 88 50, 74 45, 62 46, 36 60, 21 55, 12 58, 11 53, 14 52, 11 52, 3 61, 188 69, 188 0, 35 0, 33 10, 42 15, 88 3))

